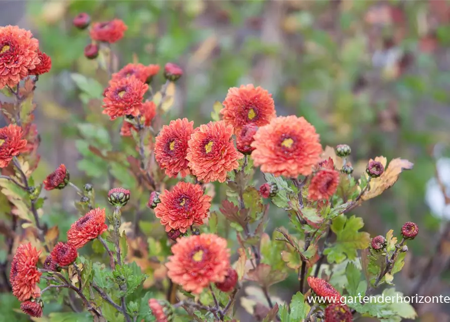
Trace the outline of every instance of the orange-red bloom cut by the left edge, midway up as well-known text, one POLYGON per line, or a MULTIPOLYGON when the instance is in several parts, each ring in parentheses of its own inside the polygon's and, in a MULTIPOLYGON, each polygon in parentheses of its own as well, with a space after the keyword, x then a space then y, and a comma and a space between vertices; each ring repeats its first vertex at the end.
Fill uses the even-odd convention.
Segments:
POLYGON ((22 128, 15 124, 2 127, 0 129, 0 168, 7 167, 14 156, 27 151, 27 140, 22 137, 22 128))

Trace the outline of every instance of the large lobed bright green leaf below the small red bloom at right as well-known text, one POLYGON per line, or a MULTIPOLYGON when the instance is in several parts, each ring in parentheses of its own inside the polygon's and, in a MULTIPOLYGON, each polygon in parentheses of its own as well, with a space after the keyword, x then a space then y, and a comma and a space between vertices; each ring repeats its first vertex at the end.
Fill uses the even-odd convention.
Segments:
POLYGON ((356 216, 347 219, 342 214, 333 220, 331 229, 337 236, 336 243, 324 251, 330 263, 341 263, 346 258, 354 260, 357 256, 357 250, 369 246, 370 235, 367 232, 359 231, 363 226, 362 218, 356 216))

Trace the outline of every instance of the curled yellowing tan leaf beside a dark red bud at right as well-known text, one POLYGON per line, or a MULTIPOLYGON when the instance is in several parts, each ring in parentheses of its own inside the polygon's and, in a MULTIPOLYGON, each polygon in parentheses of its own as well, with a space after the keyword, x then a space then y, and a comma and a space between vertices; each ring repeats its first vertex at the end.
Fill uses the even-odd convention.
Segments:
MULTIPOLYGON (((375 161, 380 162, 384 167, 387 164, 384 156, 375 157, 375 161)), ((370 180, 370 189, 361 196, 361 199, 369 200, 380 195, 384 190, 391 188, 397 182, 403 170, 411 170, 413 166, 414 164, 406 159, 396 158, 391 160, 381 176, 370 180)))

